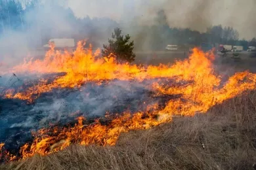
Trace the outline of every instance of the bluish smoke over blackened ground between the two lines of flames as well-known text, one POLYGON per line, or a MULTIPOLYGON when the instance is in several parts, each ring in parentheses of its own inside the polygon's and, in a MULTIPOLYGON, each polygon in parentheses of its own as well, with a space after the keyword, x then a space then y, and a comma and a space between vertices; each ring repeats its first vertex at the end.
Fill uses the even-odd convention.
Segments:
POLYGON ((31 105, 27 105, 26 101, 0 98, 0 142, 7 144, 7 147, 18 148, 30 139, 32 130, 63 126, 74 122, 78 116, 94 119, 104 116, 106 112, 118 114, 146 110, 148 105, 160 101, 154 99, 152 91, 147 88, 153 81, 113 80, 101 86, 89 83, 76 90, 56 89, 41 94, 31 105))

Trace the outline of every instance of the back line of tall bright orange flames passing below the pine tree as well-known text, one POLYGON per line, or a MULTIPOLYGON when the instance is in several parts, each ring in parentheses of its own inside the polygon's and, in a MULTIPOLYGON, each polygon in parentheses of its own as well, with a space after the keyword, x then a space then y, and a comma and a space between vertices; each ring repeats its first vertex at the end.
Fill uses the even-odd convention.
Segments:
MULTIPOLYGON (((211 75, 211 59, 213 54, 205 56, 199 50, 185 61, 177 61, 173 66, 160 65, 139 67, 128 63, 116 63, 114 58, 98 58, 98 51, 93 54, 91 48, 83 49, 83 43, 78 42, 74 54, 51 50, 47 52, 42 60, 24 61, 22 65, 14 67, 12 73, 66 73, 49 83, 47 80, 40 80, 39 84, 32 88, 20 89, 18 92, 7 92, 5 97, 13 99, 26 99, 33 101, 41 93, 50 92, 54 88, 80 87, 86 82, 100 82, 101 80, 139 80, 152 78, 177 78, 179 80, 195 80, 196 78, 208 75, 208 80, 215 79, 211 75)), ((217 81, 217 80, 215 80, 217 81)), ((213 82, 218 84, 218 82, 213 82)))

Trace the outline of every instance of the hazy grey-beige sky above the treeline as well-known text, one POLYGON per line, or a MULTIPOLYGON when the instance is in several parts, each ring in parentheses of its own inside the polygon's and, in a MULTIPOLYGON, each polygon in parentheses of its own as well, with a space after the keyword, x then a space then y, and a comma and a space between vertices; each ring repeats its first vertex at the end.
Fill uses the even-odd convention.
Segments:
POLYGON ((152 24, 163 9, 170 27, 205 31, 210 25, 232 26, 240 39, 256 37, 255 0, 58 0, 78 18, 108 17, 138 24, 152 24))

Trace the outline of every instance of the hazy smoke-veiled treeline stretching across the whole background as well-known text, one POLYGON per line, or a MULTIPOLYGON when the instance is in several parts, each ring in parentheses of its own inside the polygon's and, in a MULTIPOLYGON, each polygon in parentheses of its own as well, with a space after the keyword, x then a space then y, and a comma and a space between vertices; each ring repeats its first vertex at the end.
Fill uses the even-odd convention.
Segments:
POLYGON ((129 27, 118 24, 109 18, 76 18, 70 9, 51 2, 40 3, 33 0, 22 8, 19 1, 0 0, 0 37, 9 30, 26 35, 30 46, 42 46, 52 38, 74 38, 76 41, 89 39, 95 47, 102 47, 108 41, 115 27, 121 27, 135 41, 135 50, 163 50, 167 44, 230 44, 256 46, 256 40, 239 39, 239 33, 232 27, 215 25, 205 33, 189 28, 170 27, 165 13, 161 10, 154 25, 138 26, 135 22, 129 27), (44 9, 45 7, 45 9, 44 9))

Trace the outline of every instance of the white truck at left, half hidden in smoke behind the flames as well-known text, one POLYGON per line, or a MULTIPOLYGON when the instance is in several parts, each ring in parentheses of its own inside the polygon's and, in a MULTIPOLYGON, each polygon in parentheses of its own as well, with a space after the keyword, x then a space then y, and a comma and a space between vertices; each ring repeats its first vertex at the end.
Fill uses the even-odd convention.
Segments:
MULTIPOLYGON (((75 48, 74 39, 50 39, 49 43, 53 42, 56 49, 73 49, 75 48)), ((49 44, 45 44, 44 48, 50 48, 49 44)))

